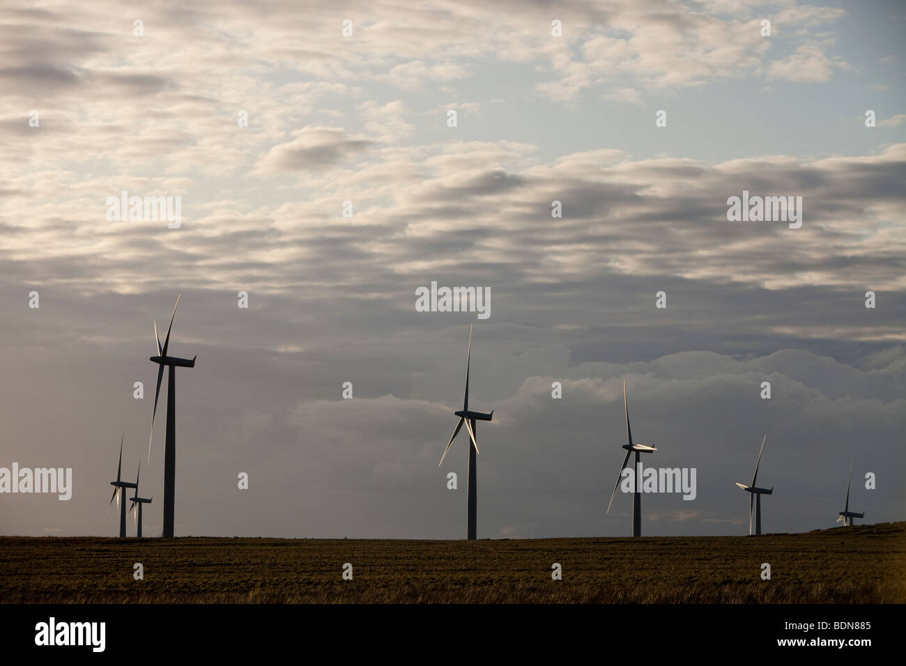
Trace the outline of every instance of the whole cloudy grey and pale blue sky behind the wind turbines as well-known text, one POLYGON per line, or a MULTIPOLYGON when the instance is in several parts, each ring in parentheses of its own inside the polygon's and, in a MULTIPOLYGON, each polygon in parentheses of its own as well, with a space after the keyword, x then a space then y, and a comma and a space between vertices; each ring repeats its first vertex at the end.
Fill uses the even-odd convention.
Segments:
POLYGON ((473 324, 479 538, 631 534, 623 381, 643 464, 696 470, 643 535, 746 534, 764 437, 764 531, 836 525, 851 461, 850 508, 906 519, 904 31, 877 0, 0 5, 0 468, 72 468, 0 534, 115 536, 123 429, 160 533, 178 294, 178 536, 465 536, 473 324), (179 226, 111 220, 122 191, 179 226), (743 191, 801 227, 729 221, 743 191), (432 282, 489 316, 417 311, 432 282))

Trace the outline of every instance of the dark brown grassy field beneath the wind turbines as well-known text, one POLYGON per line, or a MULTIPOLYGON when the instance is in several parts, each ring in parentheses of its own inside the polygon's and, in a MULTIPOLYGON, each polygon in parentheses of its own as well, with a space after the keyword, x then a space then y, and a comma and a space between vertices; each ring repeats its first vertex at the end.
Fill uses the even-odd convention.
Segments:
POLYGON ((906 523, 474 542, 0 537, 0 603, 904 602, 906 523))

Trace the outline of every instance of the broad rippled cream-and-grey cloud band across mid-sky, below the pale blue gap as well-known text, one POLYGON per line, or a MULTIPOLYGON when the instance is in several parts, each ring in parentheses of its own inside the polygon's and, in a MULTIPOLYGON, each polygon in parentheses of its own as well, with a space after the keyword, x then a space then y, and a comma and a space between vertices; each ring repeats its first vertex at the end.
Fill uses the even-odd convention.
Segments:
MULTIPOLYGON (((906 246, 897 224, 906 144, 867 157, 766 156, 711 165, 631 159, 618 150, 545 160, 534 146, 507 141, 403 150, 365 136, 320 126, 295 131, 260 160, 255 177, 305 173, 311 193, 278 190, 276 201, 240 209, 232 199, 241 192, 223 202, 199 200, 190 179, 92 180, 68 172, 42 177, 45 191, 59 194, 35 207, 33 181, 11 172, 0 222, 32 231, 0 241, 7 256, 21 262, 7 265, 7 275, 63 285, 91 275, 86 262, 94 261, 104 271, 85 283, 89 292, 119 289, 138 275, 139 291, 149 291, 149 279, 171 270, 183 288, 239 283, 273 292, 327 280, 354 289, 400 279, 427 284, 429 275, 456 269, 458 253, 467 252, 472 279, 498 285, 496 293, 508 285, 516 294, 515 285, 526 281, 553 288, 581 275, 593 282, 631 279, 651 294, 670 286, 677 297, 715 285, 744 290, 733 298, 760 294, 745 291, 751 289, 812 293, 798 307, 814 304, 815 313, 825 308, 824 299, 856 298, 868 286, 889 302, 904 285, 906 246), (362 161, 352 169, 356 157, 362 161), (121 189, 182 193, 192 233, 161 233, 155 222, 107 222, 103 202, 121 189), (743 190, 802 196, 803 226, 728 222, 727 199, 743 190), (343 200, 354 202, 356 215, 340 221, 343 200), (551 217, 554 200, 563 217, 551 217), (73 246, 73 233, 85 242, 73 246), (156 256, 149 256, 149 242, 156 256), (241 257, 236 247, 243 248, 241 257), (319 256, 316 274, 308 267, 313 256, 319 256)), ((252 183, 244 187, 254 200, 252 183)), ((790 303, 799 298, 784 297, 790 303)), ((578 306, 583 298, 577 291, 570 303, 578 306)), ((865 328, 834 307, 795 323, 778 317, 775 333, 902 341, 890 314, 884 308, 865 328)))

